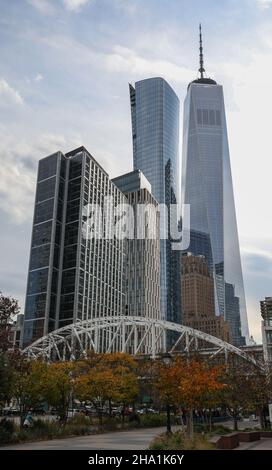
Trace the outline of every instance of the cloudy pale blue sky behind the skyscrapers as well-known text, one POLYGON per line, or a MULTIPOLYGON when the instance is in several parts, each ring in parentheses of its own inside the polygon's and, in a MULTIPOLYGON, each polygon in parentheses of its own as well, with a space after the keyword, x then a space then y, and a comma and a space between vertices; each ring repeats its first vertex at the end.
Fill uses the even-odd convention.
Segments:
POLYGON ((24 305, 37 162, 84 145, 132 169, 128 83, 224 87, 250 332, 272 295, 272 0, 0 0, 0 290, 24 305))

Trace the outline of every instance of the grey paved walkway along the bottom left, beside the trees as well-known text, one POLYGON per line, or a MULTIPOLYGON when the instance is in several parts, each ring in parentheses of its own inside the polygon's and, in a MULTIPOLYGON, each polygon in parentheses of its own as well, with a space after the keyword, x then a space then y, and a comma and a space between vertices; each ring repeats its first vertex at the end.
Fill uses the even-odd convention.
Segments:
MULTIPOLYGON (((173 430, 179 429, 174 426, 173 430)), ((145 450, 155 436, 165 432, 165 427, 69 437, 52 441, 28 442, 1 447, 0 450, 145 450)))

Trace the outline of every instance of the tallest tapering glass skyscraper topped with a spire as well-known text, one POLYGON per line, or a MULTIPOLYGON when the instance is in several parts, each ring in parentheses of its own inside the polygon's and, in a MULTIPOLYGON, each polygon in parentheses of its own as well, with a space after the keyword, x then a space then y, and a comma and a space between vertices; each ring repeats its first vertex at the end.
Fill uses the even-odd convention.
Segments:
POLYGON ((200 78, 184 103, 182 203, 190 204, 188 251, 204 255, 214 279, 215 311, 228 321, 232 341, 249 338, 232 187, 223 88, 204 77, 200 30, 200 78))

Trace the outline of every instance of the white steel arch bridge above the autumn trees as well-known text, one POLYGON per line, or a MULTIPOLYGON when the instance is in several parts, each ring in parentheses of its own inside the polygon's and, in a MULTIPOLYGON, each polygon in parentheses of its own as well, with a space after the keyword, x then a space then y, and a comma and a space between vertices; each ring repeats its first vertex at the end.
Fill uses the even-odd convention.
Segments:
POLYGON ((215 336, 177 323, 140 316, 108 316, 71 323, 39 338, 23 352, 32 359, 64 361, 84 357, 88 350, 126 352, 152 358, 165 352, 190 354, 206 351, 209 358, 224 354, 227 360, 228 355, 233 354, 258 366, 250 354, 215 336), (175 342, 167 348, 169 332, 174 334, 175 342), (203 349, 203 344, 209 344, 210 348, 205 346, 203 349))

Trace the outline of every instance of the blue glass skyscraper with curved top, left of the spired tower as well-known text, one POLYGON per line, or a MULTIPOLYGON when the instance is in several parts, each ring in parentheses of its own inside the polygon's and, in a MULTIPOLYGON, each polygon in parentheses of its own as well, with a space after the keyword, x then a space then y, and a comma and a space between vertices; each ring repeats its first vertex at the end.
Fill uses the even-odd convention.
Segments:
MULTIPOLYGON (((133 165, 141 170, 159 204, 179 202, 179 99, 162 78, 130 88, 133 165)), ((173 251, 168 221, 161 212, 160 293, 162 319, 180 323, 179 252, 173 251), (162 237, 161 237, 162 238, 162 237)))

